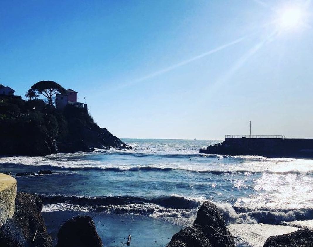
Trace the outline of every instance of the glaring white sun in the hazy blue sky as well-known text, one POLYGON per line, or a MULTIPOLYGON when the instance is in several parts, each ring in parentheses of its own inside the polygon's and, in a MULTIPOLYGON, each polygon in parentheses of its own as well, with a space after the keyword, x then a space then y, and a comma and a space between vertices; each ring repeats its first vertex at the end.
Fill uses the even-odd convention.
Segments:
POLYGON ((289 6, 278 12, 278 26, 280 29, 295 29, 303 25, 305 11, 300 6, 289 6))

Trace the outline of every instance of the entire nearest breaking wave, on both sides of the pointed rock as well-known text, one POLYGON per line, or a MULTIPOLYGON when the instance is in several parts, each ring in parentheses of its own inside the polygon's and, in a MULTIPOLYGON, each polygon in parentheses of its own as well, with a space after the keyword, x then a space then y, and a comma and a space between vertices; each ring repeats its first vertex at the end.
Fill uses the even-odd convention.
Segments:
MULTIPOLYGON (((83 197, 63 195, 38 195, 43 203, 43 212, 82 211, 118 214, 137 214, 150 217, 195 217, 206 199, 187 198, 177 195, 157 198, 131 196, 83 197)), ((272 209, 238 208, 227 202, 213 202, 227 224, 288 224, 294 221, 313 219, 313 208, 272 209)))

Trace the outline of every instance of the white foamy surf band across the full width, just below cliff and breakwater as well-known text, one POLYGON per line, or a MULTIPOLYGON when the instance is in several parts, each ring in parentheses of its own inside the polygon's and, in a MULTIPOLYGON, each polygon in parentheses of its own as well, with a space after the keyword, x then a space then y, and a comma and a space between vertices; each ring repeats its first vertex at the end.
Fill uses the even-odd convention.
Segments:
MULTIPOLYGON (((111 150, 111 154, 122 153, 124 151, 111 150)), ((127 155, 127 153, 126 153, 127 155)), ((195 154, 194 154, 195 155, 195 154)), ((188 156, 188 155, 187 155, 188 156)), ((115 169, 116 171, 139 171, 141 169, 174 169, 174 170, 186 170, 186 171, 196 171, 196 172, 225 172, 225 173, 236 173, 236 172, 252 172, 252 173, 268 173, 268 174, 302 174, 302 175, 311 175, 313 174, 313 162, 311 160, 295 160, 295 159, 270 159, 264 158, 260 161, 259 158, 255 156, 242 156, 238 159, 241 159, 242 162, 233 162, 230 163, 231 158, 219 158, 218 156, 213 156, 215 159, 210 159, 208 162, 205 162, 208 155, 198 155, 192 157, 190 162, 182 162, 179 159, 165 160, 159 159, 157 163, 151 164, 131 164, 129 161, 117 158, 112 160, 101 159, 103 157, 102 153, 66 153, 66 154, 53 154, 49 156, 39 156, 39 157, 0 157, 0 164, 17 164, 17 165, 30 165, 30 166, 52 166, 64 169, 71 168, 80 168, 80 169, 115 169), (99 156, 99 157, 98 157, 99 156), (203 162, 204 161, 204 162, 203 162), (199 164, 199 162, 202 162, 199 164), (226 163, 225 163, 226 162, 226 163), (295 169, 296 168, 296 169, 295 169)), ((140 157, 140 156, 139 156, 140 157)), ((212 156, 210 156, 212 157, 212 156)), ((237 159, 236 157, 236 159, 237 159)), ((186 158, 187 159, 187 158, 186 158)), ((135 160, 132 162, 142 162, 140 160, 135 160)))

